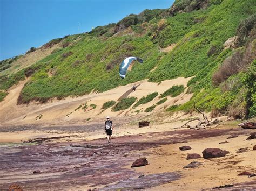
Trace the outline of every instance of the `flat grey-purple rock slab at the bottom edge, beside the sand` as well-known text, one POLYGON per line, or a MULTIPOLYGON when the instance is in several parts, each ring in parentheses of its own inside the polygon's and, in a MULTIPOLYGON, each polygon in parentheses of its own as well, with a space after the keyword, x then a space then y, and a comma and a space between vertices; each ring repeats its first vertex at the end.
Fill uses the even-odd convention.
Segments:
POLYGON ((145 189, 164 183, 169 183, 181 178, 178 172, 168 172, 159 174, 150 174, 140 178, 129 178, 123 181, 119 181, 115 185, 105 186, 104 190, 109 189, 145 189))

